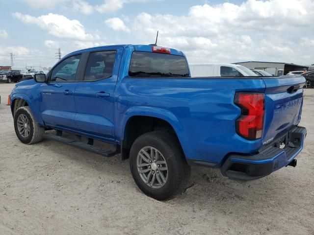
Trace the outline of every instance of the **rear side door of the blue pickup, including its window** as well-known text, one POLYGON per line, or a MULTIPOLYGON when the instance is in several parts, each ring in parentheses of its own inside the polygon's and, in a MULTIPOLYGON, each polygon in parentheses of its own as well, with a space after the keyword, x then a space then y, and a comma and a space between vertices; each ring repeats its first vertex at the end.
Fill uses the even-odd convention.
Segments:
POLYGON ((75 122, 80 132, 113 139, 114 88, 122 52, 122 47, 89 52, 84 76, 75 89, 75 122))

